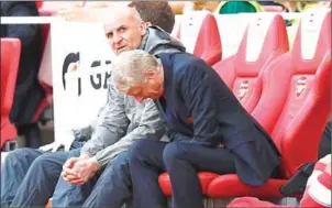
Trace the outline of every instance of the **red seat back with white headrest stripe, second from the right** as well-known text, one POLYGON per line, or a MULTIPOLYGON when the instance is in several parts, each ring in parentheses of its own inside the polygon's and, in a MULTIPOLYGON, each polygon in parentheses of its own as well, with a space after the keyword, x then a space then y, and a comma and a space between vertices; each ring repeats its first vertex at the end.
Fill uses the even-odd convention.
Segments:
MULTIPOLYGON (((213 68, 233 90, 243 107, 252 112, 262 94, 262 76, 268 63, 288 52, 284 19, 278 14, 255 14, 235 55, 213 68)), ((262 123, 264 125, 264 123, 262 123)))

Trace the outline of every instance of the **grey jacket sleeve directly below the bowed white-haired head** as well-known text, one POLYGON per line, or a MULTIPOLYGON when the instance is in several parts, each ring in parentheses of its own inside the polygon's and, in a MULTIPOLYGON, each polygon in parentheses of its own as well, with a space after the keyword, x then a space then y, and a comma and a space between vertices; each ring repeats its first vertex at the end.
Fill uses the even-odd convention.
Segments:
POLYGON ((141 105, 144 105, 144 108, 141 112, 137 112, 142 113, 139 125, 133 131, 120 139, 120 141, 96 154, 96 160, 100 165, 103 166, 108 164, 110 160, 122 151, 128 150, 136 140, 162 139, 163 134, 165 133, 165 129, 155 103, 153 100, 146 99, 141 105))

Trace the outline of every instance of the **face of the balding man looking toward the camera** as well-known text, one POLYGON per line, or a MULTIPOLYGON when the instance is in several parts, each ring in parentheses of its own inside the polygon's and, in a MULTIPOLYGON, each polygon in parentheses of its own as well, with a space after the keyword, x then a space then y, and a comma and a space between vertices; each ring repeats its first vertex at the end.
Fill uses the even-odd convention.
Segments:
POLYGON ((104 31, 111 48, 119 55, 121 52, 139 48, 146 25, 139 17, 124 12, 106 23, 104 31))

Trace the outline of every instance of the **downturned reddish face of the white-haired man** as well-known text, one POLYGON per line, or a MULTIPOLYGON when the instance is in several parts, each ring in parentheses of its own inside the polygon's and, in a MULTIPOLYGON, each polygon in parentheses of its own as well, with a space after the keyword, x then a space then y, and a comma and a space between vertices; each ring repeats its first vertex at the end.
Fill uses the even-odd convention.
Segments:
MULTIPOLYGON (((148 73, 148 72, 147 72, 148 73)), ((128 90, 129 96, 135 97, 141 102, 146 98, 158 99, 164 92, 164 76, 161 72, 151 72, 146 81, 132 86, 128 90)))

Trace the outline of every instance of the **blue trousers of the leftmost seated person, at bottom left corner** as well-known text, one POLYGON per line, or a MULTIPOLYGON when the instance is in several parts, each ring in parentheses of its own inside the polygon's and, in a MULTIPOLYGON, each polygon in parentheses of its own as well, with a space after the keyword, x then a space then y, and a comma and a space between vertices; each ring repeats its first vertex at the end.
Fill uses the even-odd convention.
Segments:
POLYGON ((1 168, 1 207, 45 206, 52 197, 69 152, 48 153, 18 149, 5 157, 1 168))

